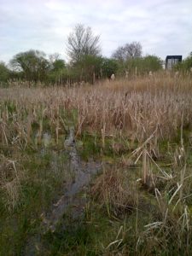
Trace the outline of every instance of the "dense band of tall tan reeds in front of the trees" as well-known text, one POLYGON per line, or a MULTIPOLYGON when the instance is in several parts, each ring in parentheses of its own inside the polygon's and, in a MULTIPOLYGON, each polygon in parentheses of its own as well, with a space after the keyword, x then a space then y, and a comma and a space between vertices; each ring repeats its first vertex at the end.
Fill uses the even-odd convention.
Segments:
MULTIPOLYGON (((182 122, 184 127, 191 125, 191 88, 189 78, 157 76, 72 88, 2 89, 2 131, 5 137, 10 119, 8 102, 11 102, 14 121, 24 131, 31 130, 29 123, 39 119, 49 119, 55 130, 61 130, 65 121, 62 114, 70 120, 70 112, 76 110, 74 125, 78 134, 89 131, 119 136, 123 133, 142 143, 156 130, 157 138, 170 138, 176 135, 182 122)), ((74 121, 73 116, 71 119, 74 121)))

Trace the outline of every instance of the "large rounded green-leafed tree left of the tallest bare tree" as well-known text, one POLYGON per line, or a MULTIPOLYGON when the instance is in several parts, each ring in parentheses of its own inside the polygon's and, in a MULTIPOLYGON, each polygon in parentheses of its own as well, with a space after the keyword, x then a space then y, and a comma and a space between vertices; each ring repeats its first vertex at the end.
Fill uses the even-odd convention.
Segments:
POLYGON ((15 55, 10 65, 15 71, 22 72, 29 81, 44 81, 49 71, 49 61, 44 52, 34 49, 15 55))

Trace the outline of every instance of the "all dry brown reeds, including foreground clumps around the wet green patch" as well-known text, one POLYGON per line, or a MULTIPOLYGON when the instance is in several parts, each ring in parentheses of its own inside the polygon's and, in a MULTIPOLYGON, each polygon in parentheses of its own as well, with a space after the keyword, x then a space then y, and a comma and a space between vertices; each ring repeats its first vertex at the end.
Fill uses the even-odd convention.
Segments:
POLYGON ((159 248, 166 252, 174 241, 177 244, 172 247, 174 252, 186 247, 189 253, 190 77, 159 73, 150 78, 95 85, 49 88, 19 85, 0 89, 0 187, 9 197, 6 204, 10 210, 19 200, 20 183, 25 178, 20 165, 15 165, 13 152, 37 148, 45 131, 51 132, 55 145, 61 147, 62 136, 74 126, 77 139, 86 132, 97 138, 101 152, 109 147, 113 156, 120 155, 124 171, 112 166, 96 178, 91 190, 95 199, 107 206, 108 214, 117 218, 118 212, 125 212, 126 208, 148 211, 145 207, 150 204, 156 209, 142 232, 139 232, 139 218, 143 217, 136 211, 133 247, 141 250, 141 255, 148 255, 159 248), (137 172, 138 177, 132 177, 129 168, 137 164, 141 172, 137 172), (143 189, 148 193, 147 201, 143 200, 143 189))

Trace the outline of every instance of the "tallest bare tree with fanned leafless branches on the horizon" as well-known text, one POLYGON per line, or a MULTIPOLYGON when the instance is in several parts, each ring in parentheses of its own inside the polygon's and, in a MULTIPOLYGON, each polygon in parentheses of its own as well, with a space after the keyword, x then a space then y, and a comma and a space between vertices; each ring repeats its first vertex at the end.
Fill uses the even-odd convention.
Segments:
POLYGON ((67 38, 67 55, 70 60, 76 62, 82 55, 99 55, 100 52, 99 36, 93 34, 90 26, 75 26, 67 38))

